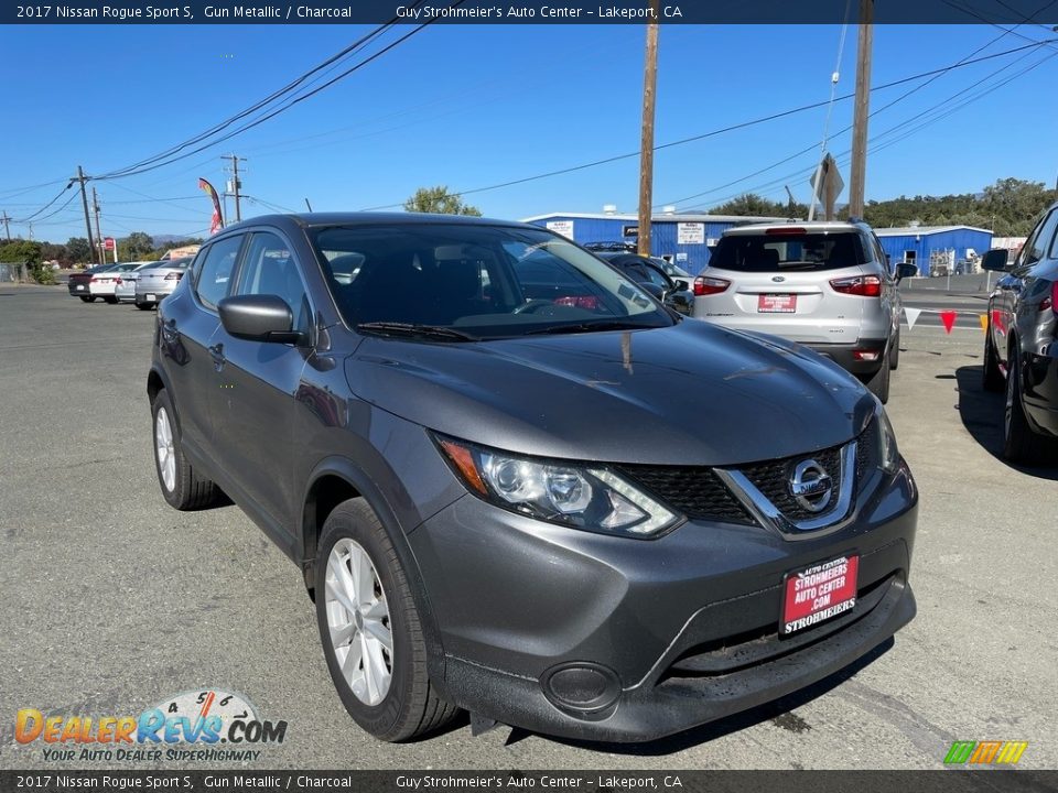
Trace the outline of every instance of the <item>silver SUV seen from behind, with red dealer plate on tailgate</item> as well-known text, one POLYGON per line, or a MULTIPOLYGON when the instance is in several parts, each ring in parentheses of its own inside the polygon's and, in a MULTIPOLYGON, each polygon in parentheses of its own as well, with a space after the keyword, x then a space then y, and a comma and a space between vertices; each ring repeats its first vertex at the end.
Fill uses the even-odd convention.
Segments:
POLYGON ((900 294, 862 222, 728 229, 694 280, 693 316, 811 347, 889 398, 900 354, 900 294))

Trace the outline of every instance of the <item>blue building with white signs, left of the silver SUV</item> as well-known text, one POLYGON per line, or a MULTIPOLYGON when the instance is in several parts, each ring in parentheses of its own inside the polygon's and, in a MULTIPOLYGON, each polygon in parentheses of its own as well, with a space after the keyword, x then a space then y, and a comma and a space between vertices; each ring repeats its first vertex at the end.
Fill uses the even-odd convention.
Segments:
MULTIPOLYGON (((738 215, 655 215, 650 221, 650 252, 671 256, 677 267, 697 275, 709 263, 709 249, 720 236, 736 224, 785 220, 774 217, 738 215)), ((616 213, 552 213, 526 218, 526 222, 543 226, 580 245, 589 242, 636 242, 638 215, 616 213)))

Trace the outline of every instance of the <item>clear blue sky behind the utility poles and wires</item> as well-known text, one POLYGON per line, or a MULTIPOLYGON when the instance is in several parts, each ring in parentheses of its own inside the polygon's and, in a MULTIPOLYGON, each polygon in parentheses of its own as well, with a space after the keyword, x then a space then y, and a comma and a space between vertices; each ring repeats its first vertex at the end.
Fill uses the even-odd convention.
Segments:
MULTIPOLYGON (((369 28, 12 30, 4 35, 0 210, 19 220, 65 182, 26 187, 68 178, 78 164, 99 174, 155 154, 263 98, 369 28)), ((827 100, 841 32, 840 25, 663 26, 656 143, 827 100)), ((197 178, 223 191, 220 155, 230 152, 247 159, 248 196, 294 210, 304 209, 306 197, 317 210, 400 204, 420 186, 471 189, 636 152, 644 35, 641 25, 432 25, 231 141, 150 173, 97 183, 104 233, 202 233, 209 207, 197 178)), ((981 54, 1021 46, 1022 36, 1052 35, 1041 25, 1006 35, 989 25, 879 25, 872 84, 948 66, 996 39, 981 54)), ((853 91, 855 50, 850 26, 839 94, 853 91)), ((952 70, 875 116, 867 198, 975 192, 1006 176, 1052 185, 1054 55, 1058 48, 1043 47, 952 70), (1007 77, 1015 78, 952 107, 1007 77)), ((876 91, 872 109, 916 85, 876 91)), ((655 156, 655 204, 708 208, 747 191, 782 198, 785 184, 807 200, 806 172, 825 119, 827 108, 819 108, 662 150, 655 156)), ((852 101, 836 102, 829 148, 842 164, 851 138, 836 133, 851 122, 852 101)), ((848 182, 848 167, 843 172, 848 182)), ((634 156, 466 200, 504 218, 600 211, 604 204, 635 211, 637 189, 634 156)), ((268 211, 244 202, 244 216, 268 211)), ((28 232, 24 224, 12 225, 12 233, 28 232)), ((39 216, 33 227, 35 239, 53 241, 84 232, 79 199, 52 217, 39 216)))

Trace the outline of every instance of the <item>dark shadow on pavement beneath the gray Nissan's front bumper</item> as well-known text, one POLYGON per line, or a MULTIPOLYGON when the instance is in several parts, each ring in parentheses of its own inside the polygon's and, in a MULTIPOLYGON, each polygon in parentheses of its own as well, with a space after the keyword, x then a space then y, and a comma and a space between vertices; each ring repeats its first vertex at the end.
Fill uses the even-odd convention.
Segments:
MULTIPOLYGON (((672 752, 682 751, 699 743, 708 743, 716 738, 723 738, 732 732, 737 732, 738 730, 746 729, 747 727, 754 727, 762 721, 771 721, 776 727, 780 727, 792 732, 803 732, 811 729, 811 725, 796 714, 790 713, 791 710, 810 703, 817 697, 829 694, 842 683, 853 677, 862 669, 870 666, 876 660, 882 658, 893 648, 895 643, 896 640, 893 637, 889 637, 884 642, 878 644, 878 647, 876 647, 874 650, 849 664, 849 666, 845 666, 845 669, 834 672, 834 674, 830 675, 829 677, 824 677, 818 683, 765 705, 759 705, 741 714, 735 714, 734 716, 720 719, 719 721, 712 721, 710 724, 702 725, 701 727, 694 727, 693 729, 678 732, 677 735, 669 736, 668 738, 660 738, 646 743, 600 743, 571 740, 568 738, 550 738, 548 736, 541 737, 548 738, 548 740, 552 740, 557 743, 565 743, 566 746, 581 747, 595 751, 605 751, 613 754, 658 757, 661 754, 671 754, 672 752)), ((528 737, 529 735, 531 734, 527 732, 526 730, 515 728, 511 730, 511 735, 507 740, 507 743, 515 743, 518 740, 521 740, 521 738, 528 737)))

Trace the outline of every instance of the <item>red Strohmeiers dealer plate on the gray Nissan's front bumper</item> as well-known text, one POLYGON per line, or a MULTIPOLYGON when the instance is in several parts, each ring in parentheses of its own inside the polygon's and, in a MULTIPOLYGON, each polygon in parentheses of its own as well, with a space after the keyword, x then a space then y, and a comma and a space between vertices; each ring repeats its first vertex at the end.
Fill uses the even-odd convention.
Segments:
POLYGON ((859 573, 857 554, 787 573, 782 579, 779 633, 789 636, 852 611, 856 607, 859 573))

